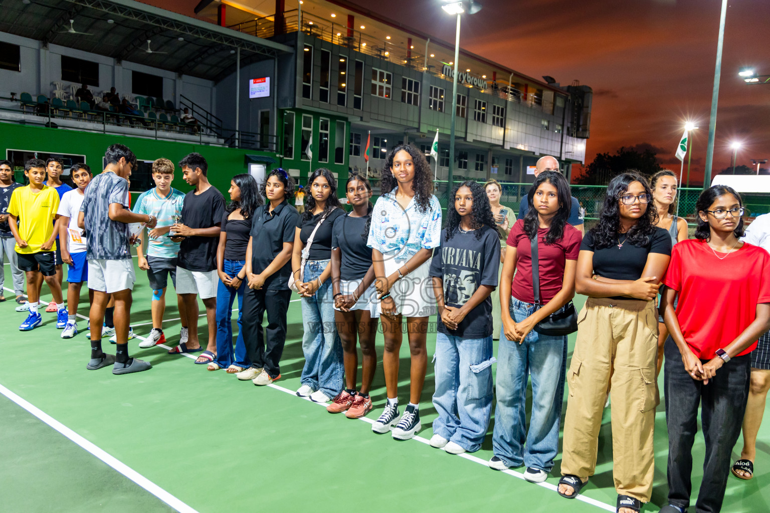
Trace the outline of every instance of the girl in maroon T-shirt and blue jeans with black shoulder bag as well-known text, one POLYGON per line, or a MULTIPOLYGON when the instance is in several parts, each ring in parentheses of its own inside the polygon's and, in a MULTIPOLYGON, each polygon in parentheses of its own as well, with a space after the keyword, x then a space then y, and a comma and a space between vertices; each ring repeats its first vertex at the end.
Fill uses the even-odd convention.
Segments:
POLYGON ((524 478, 542 482, 559 448, 567 335, 542 335, 534 326, 574 297, 581 233, 567 223, 570 185, 558 172, 537 175, 527 195, 530 208, 508 236, 500 279, 503 333, 497 352, 494 457, 497 470, 527 466, 524 478), (532 241, 537 241, 539 294, 535 304, 532 241), (514 277, 514 270, 516 275, 514 277), (524 425, 527 378, 532 376, 532 415, 524 425), (525 448, 526 445, 526 448, 525 448))

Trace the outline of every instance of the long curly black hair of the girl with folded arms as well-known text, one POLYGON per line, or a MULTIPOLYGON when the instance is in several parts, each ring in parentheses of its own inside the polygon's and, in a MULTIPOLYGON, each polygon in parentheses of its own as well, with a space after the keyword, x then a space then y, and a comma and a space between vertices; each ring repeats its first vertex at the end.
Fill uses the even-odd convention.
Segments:
MULTIPOLYGON (((644 187, 644 192, 652 198, 652 190, 647 178, 640 175, 633 169, 612 178, 607 186, 607 195, 604 196, 604 206, 599 214, 599 222, 594 228, 591 228, 591 235, 594 236, 594 247, 597 249, 609 248, 618 244, 618 231, 621 228, 620 198, 625 192, 628 192, 628 185, 631 182, 639 182, 644 187)), ((648 245, 652 234, 655 232, 655 225, 658 224, 658 210, 646 205, 647 210, 641 215, 636 224, 628 230, 626 239, 629 244, 634 246, 648 245)))

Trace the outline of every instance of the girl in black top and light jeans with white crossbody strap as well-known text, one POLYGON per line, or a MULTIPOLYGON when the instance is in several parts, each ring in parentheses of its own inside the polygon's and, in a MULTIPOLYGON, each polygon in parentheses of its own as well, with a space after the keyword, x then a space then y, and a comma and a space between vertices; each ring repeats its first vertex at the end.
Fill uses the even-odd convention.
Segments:
POLYGON ((332 228, 345 211, 336 196, 336 180, 326 168, 308 178, 306 210, 294 231, 292 273, 302 296, 305 365, 300 377, 300 397, 328 402, 342 391, 342 344, 334 325, 331 286, 332 228), (315 233, 313 233, 315 232, 315 233), (310 237, 313 240, 310 240, 310 237))

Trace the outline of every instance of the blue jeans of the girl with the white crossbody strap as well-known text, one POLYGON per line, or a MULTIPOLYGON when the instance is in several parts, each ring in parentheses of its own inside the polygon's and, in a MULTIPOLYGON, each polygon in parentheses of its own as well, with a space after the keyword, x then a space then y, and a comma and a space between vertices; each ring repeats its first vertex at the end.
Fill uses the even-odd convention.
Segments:
MULTIPOLYGON (((329 260, 305 263, 303 281, 318 278, 329 260)), ((302 298, 302 352, 305 365, 300 381, 330 398, 342 391, 345 368, 342 362, 342 342, 334 322, 332 281, 327 279, 311 298, 302 298)))

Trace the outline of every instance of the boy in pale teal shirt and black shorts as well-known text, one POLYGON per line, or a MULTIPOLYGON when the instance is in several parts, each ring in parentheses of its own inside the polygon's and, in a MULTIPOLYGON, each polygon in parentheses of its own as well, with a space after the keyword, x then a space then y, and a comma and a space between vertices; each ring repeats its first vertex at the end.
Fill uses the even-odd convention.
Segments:
MULTIPOLYGON (((136 249, 139 268, 147 271, 149 285, 152 287, 152 330, 146 340, 139 342, 140 348, 152 348, 166 341, 162 329, 163 313, 166 311, 166 285, 171 275, 171 281, 176 288, 176 255, 179 253, 179 242, 173 242, 168 235, 169 228, 176 222, 172 216, 182 215, 182 202, 185 198, 183 192, 171 187, 173 179, 173 162, 168 158, 159 158, 152 162, 152 180, 155 181, 156 187, 143 192, 134 206, 134 212, 137 214, 154 215, 158 218, 158 225, 148 234, 146 254, 143 251, 144 229, 139 233, 139 247, 136 249)), ((187 341, 187 318, 182 296, 176 295, 176 304, 182 321, 179 343, 184 343, 187 341)))

